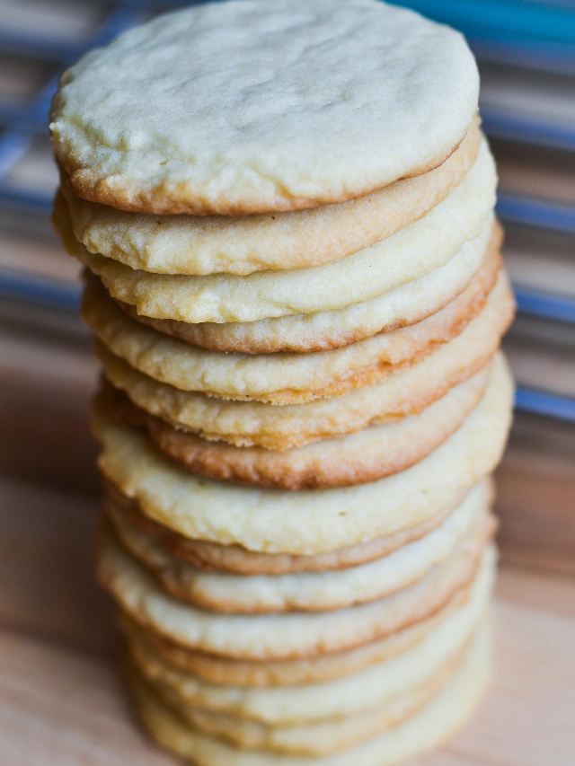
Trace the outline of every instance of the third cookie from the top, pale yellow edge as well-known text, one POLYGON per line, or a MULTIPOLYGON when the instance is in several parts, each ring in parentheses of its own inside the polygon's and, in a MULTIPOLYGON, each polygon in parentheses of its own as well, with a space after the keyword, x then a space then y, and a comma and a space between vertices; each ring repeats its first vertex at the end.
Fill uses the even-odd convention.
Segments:
POLYGON ((71 225, 66 216, 56 216, 55 222, 70 254, 101 277, 114 298, 134 305, 137 313, 190 323, 258 321, 333 311, 375 298, 444 266, 469 240, 485 251, 496 183, 493 159, 483 143, 459 186, 394 236, 324 266, 262 271, 247 277, 185 277, 130 269, 89 253, 68 233, 71 225))

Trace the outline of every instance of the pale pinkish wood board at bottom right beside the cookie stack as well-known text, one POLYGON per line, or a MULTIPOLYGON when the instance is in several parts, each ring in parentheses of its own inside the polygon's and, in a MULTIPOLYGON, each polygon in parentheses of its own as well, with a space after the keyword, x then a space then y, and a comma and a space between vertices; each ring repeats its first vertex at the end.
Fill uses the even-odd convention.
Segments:
POLYGON ((448 750, 501 766, 572 766, 575 621, 507 600, 497 612, 493 691, 448 750))

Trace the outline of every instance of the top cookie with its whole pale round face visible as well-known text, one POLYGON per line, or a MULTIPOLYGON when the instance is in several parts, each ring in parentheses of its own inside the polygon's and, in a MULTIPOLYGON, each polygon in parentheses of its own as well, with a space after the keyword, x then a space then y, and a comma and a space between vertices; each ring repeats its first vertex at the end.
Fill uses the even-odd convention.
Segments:
POLYGON ((376 0, 231 0, 94 50, 52 106, 83 198, 193 215, 300 210, 442 163, 477 109, 456 31, 376 0))

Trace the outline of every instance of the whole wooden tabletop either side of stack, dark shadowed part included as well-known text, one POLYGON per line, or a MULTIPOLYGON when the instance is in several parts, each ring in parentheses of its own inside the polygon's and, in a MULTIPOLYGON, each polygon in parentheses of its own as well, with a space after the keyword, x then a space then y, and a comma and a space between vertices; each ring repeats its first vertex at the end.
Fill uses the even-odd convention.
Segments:
MULTIPOLYGON (((168 766, 116 680, 93 582, 98 502, 0 478, 0 763, 168 766)), ((419 766, 573 766, 575 582, 505 567, 497 678, 471 726, 419 766)))

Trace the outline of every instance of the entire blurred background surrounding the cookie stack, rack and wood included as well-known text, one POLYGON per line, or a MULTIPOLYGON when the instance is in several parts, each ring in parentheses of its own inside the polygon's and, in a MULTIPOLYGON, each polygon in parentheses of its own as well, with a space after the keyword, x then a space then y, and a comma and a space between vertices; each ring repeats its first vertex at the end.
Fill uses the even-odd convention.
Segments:
MULTIPOLYGON (((93 582, 98 373, 78 267, 49 223, 47 111, 63 66, 178 4, 190 3, 0 0, 0 762, 14 766, 173 763, 128 725, 111 611, 93 582)), ((498 472, 497 688, 425 764, 571 766, 575 2, 400 4, 463 31, 479 59, 519 306, 505 341, 518 390, 498 472)))

